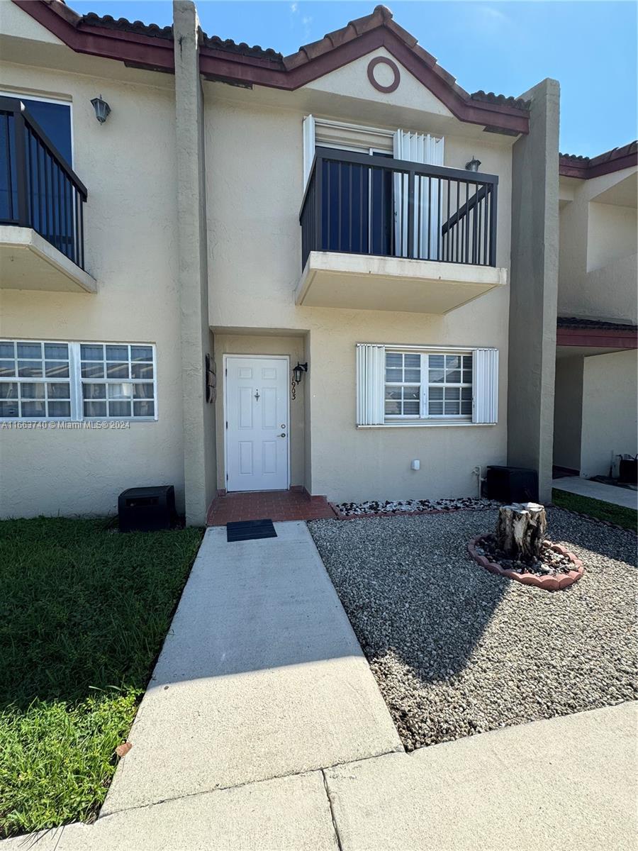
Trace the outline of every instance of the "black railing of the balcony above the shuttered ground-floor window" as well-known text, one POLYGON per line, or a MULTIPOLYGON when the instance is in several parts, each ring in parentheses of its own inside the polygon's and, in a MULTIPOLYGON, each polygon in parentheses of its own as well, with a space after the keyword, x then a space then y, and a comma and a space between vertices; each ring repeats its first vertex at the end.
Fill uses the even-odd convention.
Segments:
POLYGON ((310 251, 496 266, 498 177, 318 148, 299 214, 310 251))

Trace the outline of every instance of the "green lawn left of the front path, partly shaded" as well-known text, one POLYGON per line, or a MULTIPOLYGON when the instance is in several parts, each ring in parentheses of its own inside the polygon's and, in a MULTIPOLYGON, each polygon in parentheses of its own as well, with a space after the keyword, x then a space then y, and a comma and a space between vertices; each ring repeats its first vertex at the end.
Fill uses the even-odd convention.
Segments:
POLYGON ((0 837, 96 813, 201 539, 0 522, 0 837))

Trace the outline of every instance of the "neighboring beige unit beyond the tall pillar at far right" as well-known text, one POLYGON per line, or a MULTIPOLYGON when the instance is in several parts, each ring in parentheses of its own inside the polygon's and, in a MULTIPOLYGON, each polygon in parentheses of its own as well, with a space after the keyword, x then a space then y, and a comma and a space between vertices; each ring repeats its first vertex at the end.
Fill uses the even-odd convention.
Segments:
POLYGON ((636 147, 561 156, 554 464, 582 477, 638 454, 636 147))

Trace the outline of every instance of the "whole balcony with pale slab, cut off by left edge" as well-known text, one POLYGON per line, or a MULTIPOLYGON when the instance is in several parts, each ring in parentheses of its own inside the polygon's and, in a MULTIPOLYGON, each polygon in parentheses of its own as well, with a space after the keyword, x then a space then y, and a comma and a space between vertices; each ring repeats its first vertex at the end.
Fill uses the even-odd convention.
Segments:
POLYGON ((0 98, 0 286, 95 292, 84 271, 87 190, 15 98, 0 98))

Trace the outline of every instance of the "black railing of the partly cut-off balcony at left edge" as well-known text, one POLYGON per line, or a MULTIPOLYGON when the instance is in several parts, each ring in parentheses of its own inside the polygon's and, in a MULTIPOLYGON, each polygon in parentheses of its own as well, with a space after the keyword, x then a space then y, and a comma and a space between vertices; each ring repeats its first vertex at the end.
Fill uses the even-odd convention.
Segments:
POLYGON ((0 224, 31 227, 84 268, 87 190, 16 98, 0 97, 0 224))

